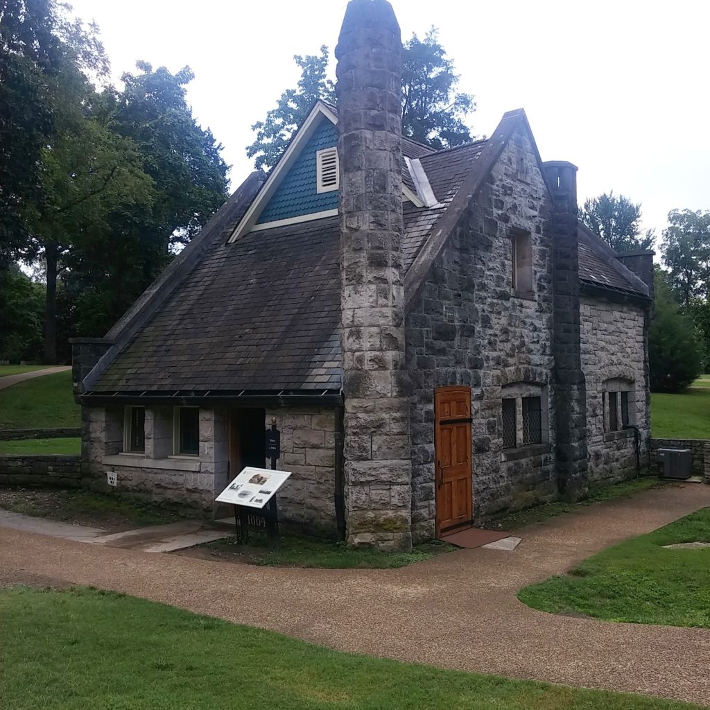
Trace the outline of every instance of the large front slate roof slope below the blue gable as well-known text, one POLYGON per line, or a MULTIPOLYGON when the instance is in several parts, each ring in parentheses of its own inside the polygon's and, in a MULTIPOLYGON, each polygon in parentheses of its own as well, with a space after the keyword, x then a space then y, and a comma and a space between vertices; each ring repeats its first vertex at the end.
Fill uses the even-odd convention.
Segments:
POLYGON ((93 391, 340 387, 337 217, 209 253, 93 391))

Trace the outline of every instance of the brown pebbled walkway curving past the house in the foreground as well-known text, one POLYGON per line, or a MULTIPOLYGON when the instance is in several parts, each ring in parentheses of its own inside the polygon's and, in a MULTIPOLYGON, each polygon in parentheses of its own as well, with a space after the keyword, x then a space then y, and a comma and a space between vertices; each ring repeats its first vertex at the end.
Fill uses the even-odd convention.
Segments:
POLYGON ((710 486, 678 484, 532 526, 512 552, 392 570, 249 567, 0 528, 0 586, 93 584, 341 650, 710 704, 710 631, 553 616, 515 596, 703 506, 710 486))

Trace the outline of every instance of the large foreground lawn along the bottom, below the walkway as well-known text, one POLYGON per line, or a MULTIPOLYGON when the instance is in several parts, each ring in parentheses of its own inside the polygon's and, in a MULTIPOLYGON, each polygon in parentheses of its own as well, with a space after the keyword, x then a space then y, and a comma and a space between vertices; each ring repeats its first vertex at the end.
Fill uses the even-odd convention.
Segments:
POLYGON ((682 710, 698 706, 349 655, 91 589, 0 593, 12 710, 682 710))

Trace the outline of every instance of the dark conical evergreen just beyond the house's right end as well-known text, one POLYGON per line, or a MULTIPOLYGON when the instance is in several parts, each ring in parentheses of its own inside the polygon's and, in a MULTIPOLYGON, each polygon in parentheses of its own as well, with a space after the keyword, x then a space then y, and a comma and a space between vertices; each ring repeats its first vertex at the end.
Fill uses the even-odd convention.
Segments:
POLYGON ((682 312, 660 268, 654 288, 655 313, 648 332, 651 391, 682 392, 701 373, 701 349, 692 320, 682 312))

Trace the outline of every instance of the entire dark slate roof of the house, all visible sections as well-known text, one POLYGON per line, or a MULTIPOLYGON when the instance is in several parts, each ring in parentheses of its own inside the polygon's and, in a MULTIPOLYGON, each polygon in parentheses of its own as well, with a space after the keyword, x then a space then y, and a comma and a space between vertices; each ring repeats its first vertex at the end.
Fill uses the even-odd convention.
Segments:
MULTIPOLYGON (((408 271, 486 141, 436 152, 405 143, 405 154, 420 157, 441 205, 405 203, 402 249, 408 271)), ((213 246, 93 383, 92 392, 339 390, 338 217, 255 231, 226 244, 248 207, 229 204, 210 237, 213 246)), ((580 229, 580 279, 642 293, 638 279, 609 256, 611 250, 580 229)))

